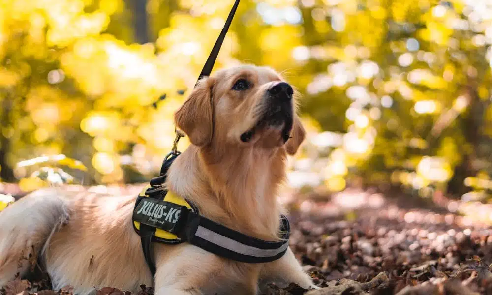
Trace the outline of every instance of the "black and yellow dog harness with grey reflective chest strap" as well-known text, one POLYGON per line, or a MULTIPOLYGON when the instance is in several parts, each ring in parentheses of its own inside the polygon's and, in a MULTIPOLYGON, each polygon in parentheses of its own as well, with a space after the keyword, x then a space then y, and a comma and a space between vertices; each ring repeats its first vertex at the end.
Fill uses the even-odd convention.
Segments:
POLYGON ((264 241, 247 236, 199 214, 186 199, 163 188, 166 175, 178 154, 166 157, 161 175, 153 178, 137 197, 133 210, 133 228, 140 235, 145 260, 152 274, 152 242, 190 243, 218 256, 245 263, 271 262, 287 251, 289 221, 281 215, 279 241, 264 241))

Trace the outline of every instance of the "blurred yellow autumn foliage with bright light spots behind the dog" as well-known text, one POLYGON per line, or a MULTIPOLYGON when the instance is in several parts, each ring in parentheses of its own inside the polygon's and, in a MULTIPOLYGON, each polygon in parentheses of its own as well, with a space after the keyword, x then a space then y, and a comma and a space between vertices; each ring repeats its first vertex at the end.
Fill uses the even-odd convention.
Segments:
MULTIPOLYGON (((1 181, 30 191, 158 174, 232 4, 0 0, 1 181)), ((308 137, 291 187, 484 204, 491 44, 490 0, 242 0, 215 68, 268 65, 301 92, 308 137)))

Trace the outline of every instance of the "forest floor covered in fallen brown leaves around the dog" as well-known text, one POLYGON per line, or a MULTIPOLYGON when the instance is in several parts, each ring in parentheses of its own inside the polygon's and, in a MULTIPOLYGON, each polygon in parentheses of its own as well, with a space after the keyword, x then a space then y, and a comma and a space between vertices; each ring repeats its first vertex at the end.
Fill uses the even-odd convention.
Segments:
MULTIPOLYGON (((492 230, 487 224, 401 193, 347 189, 330 197, 286 194, 282 201, 290 211, 292 250, 314 282, 327 288, 270 284, 267 295, 492 295, 492 230)), ((71 294, 69 286, 40 291, 46 286, 35 277, 16 279, 0 294, 71 294)), ((109 294, 130 295, 112 286, 97 292, 109 294)), ((153 289, 142 286, 138 295, 153 295, 153 289)))

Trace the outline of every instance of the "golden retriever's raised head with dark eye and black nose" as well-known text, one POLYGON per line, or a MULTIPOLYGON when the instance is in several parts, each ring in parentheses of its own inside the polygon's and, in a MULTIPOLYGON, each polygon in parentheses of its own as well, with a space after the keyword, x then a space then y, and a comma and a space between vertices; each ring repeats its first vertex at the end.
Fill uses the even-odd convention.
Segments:
POLYGON ((225 142, 294 154, 305 137, 293 88, 274 70, 251 65, 201 79, 175 121, 198 147, 225 142))

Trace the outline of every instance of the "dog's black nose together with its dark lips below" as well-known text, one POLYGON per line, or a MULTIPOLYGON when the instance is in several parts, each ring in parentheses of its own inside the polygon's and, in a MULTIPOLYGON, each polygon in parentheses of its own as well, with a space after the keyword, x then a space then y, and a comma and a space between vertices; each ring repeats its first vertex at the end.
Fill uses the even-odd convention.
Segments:
POLYGON ((256 125, 241 134, 241 141, 249 142, 256 131, 265 127, 282 128, 282 140, 286 142, 290 137, 293 124, 292 95, 294 89, 286 82, 277 82, 266 91, 267 106, 256 125))

